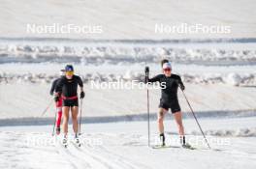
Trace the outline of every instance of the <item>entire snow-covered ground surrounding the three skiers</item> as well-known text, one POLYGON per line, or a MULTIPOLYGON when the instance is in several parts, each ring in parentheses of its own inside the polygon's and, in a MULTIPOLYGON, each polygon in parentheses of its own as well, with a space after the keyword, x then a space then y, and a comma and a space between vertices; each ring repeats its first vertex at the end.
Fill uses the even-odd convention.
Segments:
MULTIPOLYGON (((0 169, 255 169, 255 9, 255 0, 1 0, 0 169), (170 32, 181 24, 230 32, 170 32), (45 27, 56 25, 89 33, 50 33, 45 27), (180 148, 170 115, 165 131, 172 148, 147 146, 145 89, 91 86, 142 82, 144 67, 150 76, 161 73, 163 58, 184 81, 211 150, 180 91, 186 140, 196 150, 180 148), (60 144, 62 135, 51 136, 53 104, 42 116, 52 101, 50 84, 66 64, 85 84, 80 148, 72 131, 68 148, 60 144)), ((152 146, 159 144, 160 90, 149 90, 149 96, 152 146)))

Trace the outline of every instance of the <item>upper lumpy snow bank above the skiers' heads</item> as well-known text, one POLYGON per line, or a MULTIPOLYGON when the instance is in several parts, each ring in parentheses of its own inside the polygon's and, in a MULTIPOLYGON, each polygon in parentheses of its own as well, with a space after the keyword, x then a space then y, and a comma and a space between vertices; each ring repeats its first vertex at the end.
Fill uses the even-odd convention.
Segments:
POLYGON ((77 62, 91 64, 155 63, 163 57, 179 63, 253 64, 256 50, 175 48, 168 46, 0 44, 0 63, 77 62))

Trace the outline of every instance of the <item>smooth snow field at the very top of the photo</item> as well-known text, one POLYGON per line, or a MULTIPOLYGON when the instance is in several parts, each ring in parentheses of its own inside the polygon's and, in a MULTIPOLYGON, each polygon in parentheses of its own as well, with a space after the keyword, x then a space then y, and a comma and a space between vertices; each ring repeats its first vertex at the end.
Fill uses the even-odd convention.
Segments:
POLYGON ((1 37, 55 37, 78 39, 201 39, 255 38, 254 0, 2 0, 0 6, 1 37), (102 33, 94 34, 32 34, 27 24, 51 26, 85 25, 92 30, 101 26, 102 33), (155 24, 229 26, 227 34, 161 34, 155 24))

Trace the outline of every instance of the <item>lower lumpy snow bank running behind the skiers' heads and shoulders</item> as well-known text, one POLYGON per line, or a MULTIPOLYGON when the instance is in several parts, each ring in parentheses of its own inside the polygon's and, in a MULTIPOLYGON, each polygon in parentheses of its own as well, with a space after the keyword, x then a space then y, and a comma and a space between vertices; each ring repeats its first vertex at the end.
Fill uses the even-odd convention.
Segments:
MULTIPOLYGON (((114 82, 118 80, 138 82, 144 81, 144 73, 138 71, 127 70, 123 73, 104 73, 104 72, 89 72, 80 75, 84 83, 94 82, 114 82)), ((228 84, 232 86, 248 86, 256 85, 256 72, 248 73, 180 73, 181 78, 185 83, 193 84, 228 84)), ((59 74, 52 73, 10 73, 0 71, 0 84, 14 83, 51 83, 59 74)))

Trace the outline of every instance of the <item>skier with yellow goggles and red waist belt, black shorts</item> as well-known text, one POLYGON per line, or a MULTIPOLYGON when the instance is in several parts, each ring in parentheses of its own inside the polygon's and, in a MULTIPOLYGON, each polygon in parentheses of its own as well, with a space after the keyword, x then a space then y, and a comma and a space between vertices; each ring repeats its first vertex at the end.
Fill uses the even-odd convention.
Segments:
POLYGON ((65 68, 65 76, 57 82, 57 87, 55 90, 55 99, 60 97, 63 99, 63 131, 64 138, 63 144, 67 144, 67 134, 68 134, 68 122, 69 122, 69 110, 72 113, 73 129, 75 132, 76 143, 79 143, 79 98, 78 98, 78 86, 80 86, 80 99, 84 98, 83 83, 80 76, 74 74, 74 69, 72 65, 67 65, 65 68))

